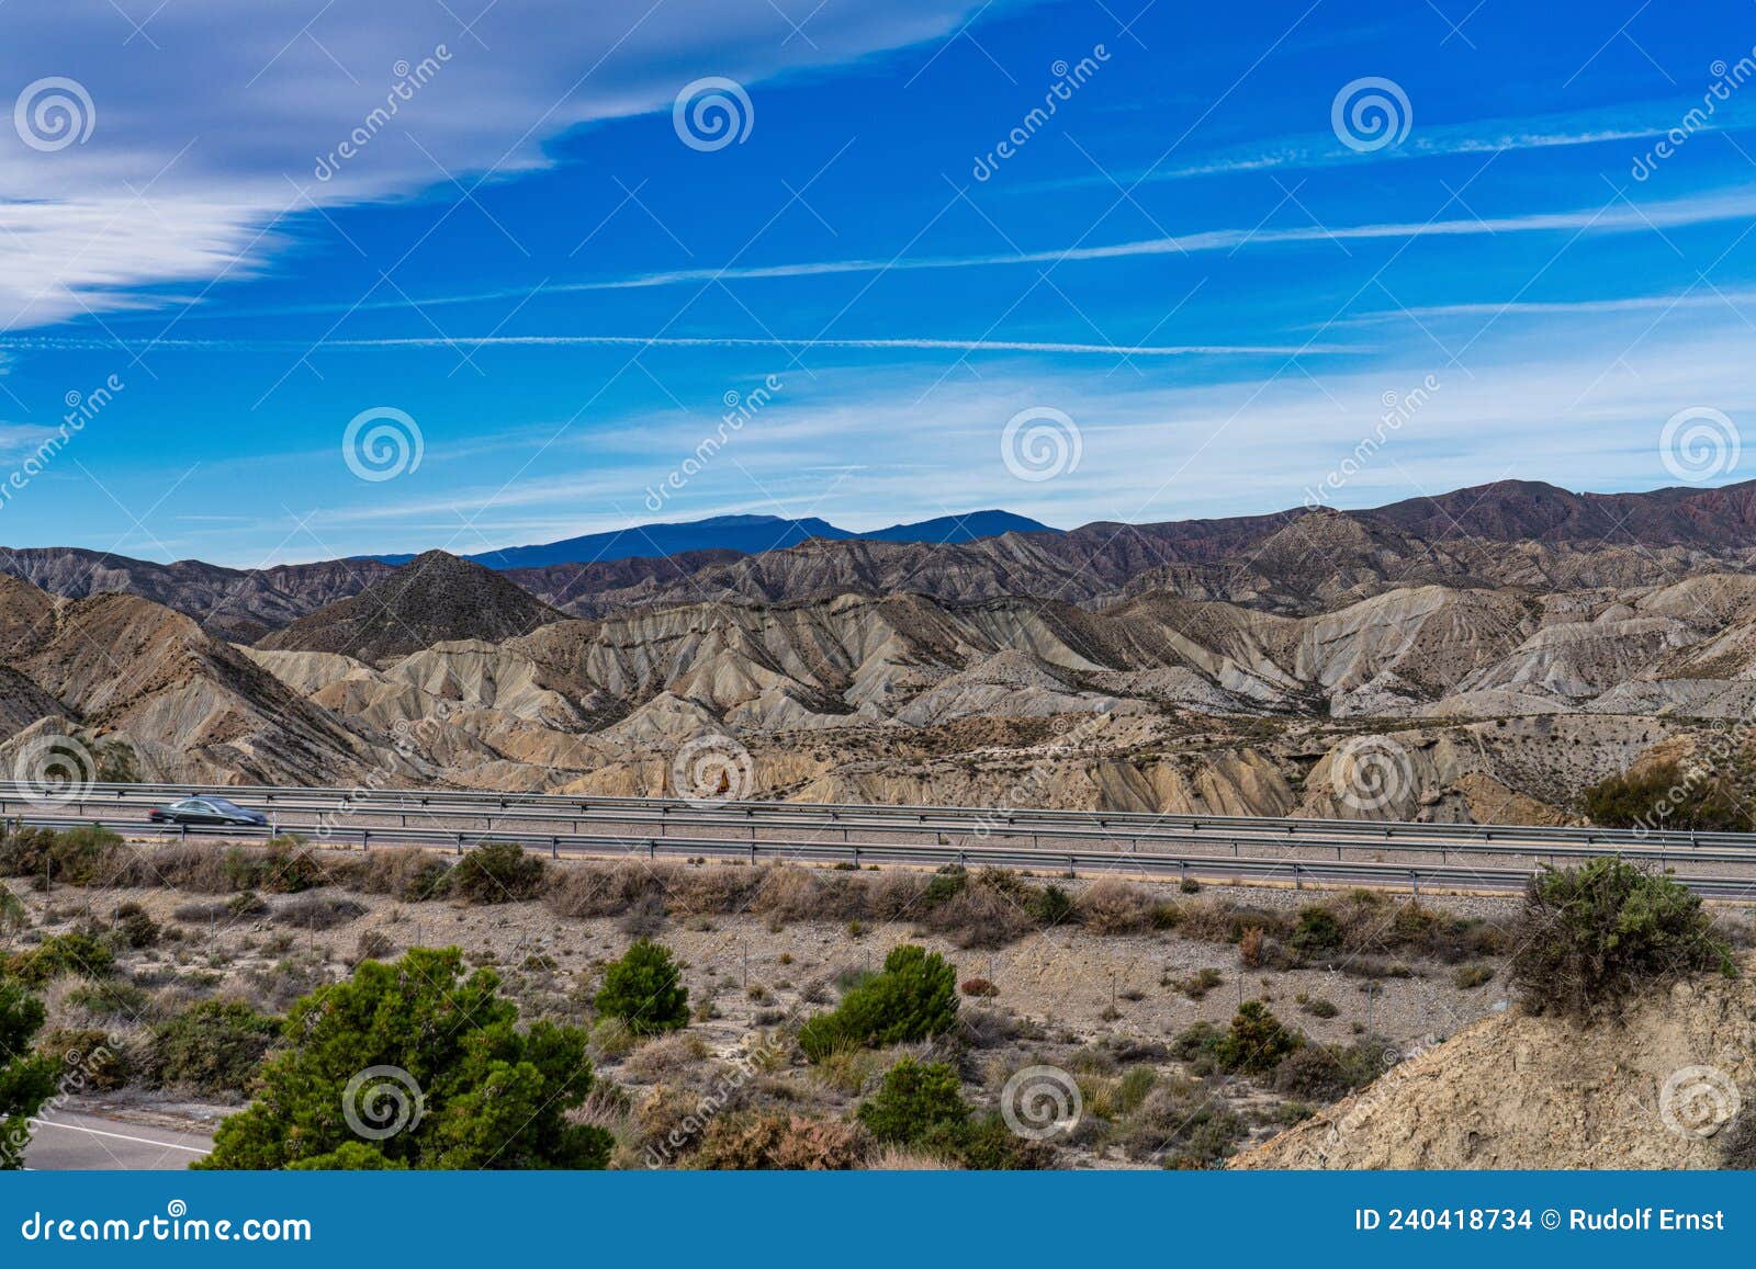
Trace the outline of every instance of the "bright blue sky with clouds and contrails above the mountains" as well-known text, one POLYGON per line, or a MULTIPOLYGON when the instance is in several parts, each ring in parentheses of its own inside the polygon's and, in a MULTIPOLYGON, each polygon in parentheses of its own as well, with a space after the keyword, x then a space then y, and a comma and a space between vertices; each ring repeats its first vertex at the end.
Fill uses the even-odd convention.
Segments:
POLYGON ((360 9, 0 9, 0 544, 1756 474, 1749 0, 360 9))

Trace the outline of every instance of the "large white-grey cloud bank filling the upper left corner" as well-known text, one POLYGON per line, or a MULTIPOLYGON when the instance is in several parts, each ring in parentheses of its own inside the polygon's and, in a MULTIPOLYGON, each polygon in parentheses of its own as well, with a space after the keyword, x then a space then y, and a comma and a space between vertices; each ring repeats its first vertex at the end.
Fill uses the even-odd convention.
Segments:
POLYGON ((520 0, 467 28, 432 0, 177 0, 135 14, 140 30, 112 0, 7 5, 5 105, 53 74, 95 118, 86 142, 47 151, 0 126, 0 328, 163 304, 151 288, 260 270, 314 209, 541 167, 567 128, 667 111, 695 77, 843 65, 971 9, 827 0, 797 39, 769 0, 520 0), (423 60, 437 70, 397 97, 423 60))

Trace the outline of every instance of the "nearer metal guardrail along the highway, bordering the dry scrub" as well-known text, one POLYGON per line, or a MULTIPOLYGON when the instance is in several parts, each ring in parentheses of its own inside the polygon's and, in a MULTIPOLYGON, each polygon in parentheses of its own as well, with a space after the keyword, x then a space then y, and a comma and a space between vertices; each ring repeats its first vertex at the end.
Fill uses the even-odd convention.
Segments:
MULTIPOLYGON (((65 816, 28 816, 21 823, 30 827, 65 825, 65 816)), ((132 835, 169 837, 177 841, 209 839, 221 841, 265 841, 274 834, 272 827, 227 827, 197 828, 179 825, 155 825, 133 820, 88 820, 105 828, 128 832, 132 835)), ((297 830, 281 825, 281 830, 297 830)), ((946 865, 964 867, 1006 867, 1024 871, 1066 871, 1071 874, 1141 874, 1141 876, 1177 876, 1178 879, 1203 881, 1282 881, 1299 888, 1310 885, 1384 885, 1408 886, 1412 893, 1421 893, 1421 886, 1463 888, 1463 890, 1521 890, 1533 876, 1533 867, 1473 867, 1459 864, 1384 864, 1359 860, 1298 860, 1264 857, 1222 857, 1222 855, 1184 855, 1159 851, 1062 851, 1062 850, 1006 850, 996 846, 897 846, 871 842, 776 842, 776 841, 734 841, 725 837, 623 837, 623 835, 581 835, 581 834, 525 834, 493 832, 469 834, 441 828, 344 828, 339 835, 356 839, 360 850, 379 846, 423 846, 450 848, 457 853, 469 850, 479 841, 516 842, 525 850, 548 851, 551 858, 574 857, 709 857, 736 858, 750 864, 764 860, 811 860, 820 864, 904 864, 904 865, 946 865)), ((1612 851, 1591 846, 1563 846, 1554 850, 1554 857, 1598 857, 1624 855, 1631 851, 1612 851)), ((1658 855, 1658 850, 1651 851, 1658 855)), ((1691 855, 1691 860, 1714 862, 1712 857, 1691 855)), ((1737 857, 1735 862, 1751 862, 1737 857)), ((1714 878, 1714 876, 1673 876, 1680 885, 1689 886, 1703 897, 1714 899, 1756 899, 1756 876, 1752 878, 1714 878)))

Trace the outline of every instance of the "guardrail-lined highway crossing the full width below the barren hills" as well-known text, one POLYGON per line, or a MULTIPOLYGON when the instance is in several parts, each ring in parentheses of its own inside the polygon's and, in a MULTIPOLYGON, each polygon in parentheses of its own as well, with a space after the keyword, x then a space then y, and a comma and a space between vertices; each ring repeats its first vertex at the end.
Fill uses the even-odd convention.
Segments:
POLYGON ((1716 899, 1756 897, 1756 834, 1637 834, 1608 828, 1431 825, 1108 811, 690 804, 676 799, 228 786, 267 811, 270 828, 151 825, 146 809, 197 792, 169 785, 93 785, 68 802, 26 799, 0 783, 0 814, 32 825, 104 823, 132 837, 262 839, 293 832, 314 844, 464 851, 513 841, 564 855, 708 857, 820 864, 964 864, 1043 872, 1133 872, 1205 881, 1519 890, 1544 864, 1600 855, 1672 869, 1716 899))

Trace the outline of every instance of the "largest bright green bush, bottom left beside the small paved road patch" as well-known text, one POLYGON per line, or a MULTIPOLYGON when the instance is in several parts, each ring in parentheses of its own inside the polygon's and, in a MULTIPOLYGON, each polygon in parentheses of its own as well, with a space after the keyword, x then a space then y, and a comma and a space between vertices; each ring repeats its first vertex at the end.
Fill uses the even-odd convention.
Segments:
POLYGON ((195 1167, 604 1167, 611 1136, 571 1120, 595 1083, 585 1032, 520 1027, 499 986, 457 948, 413 948, 318 988, 195 1167))

